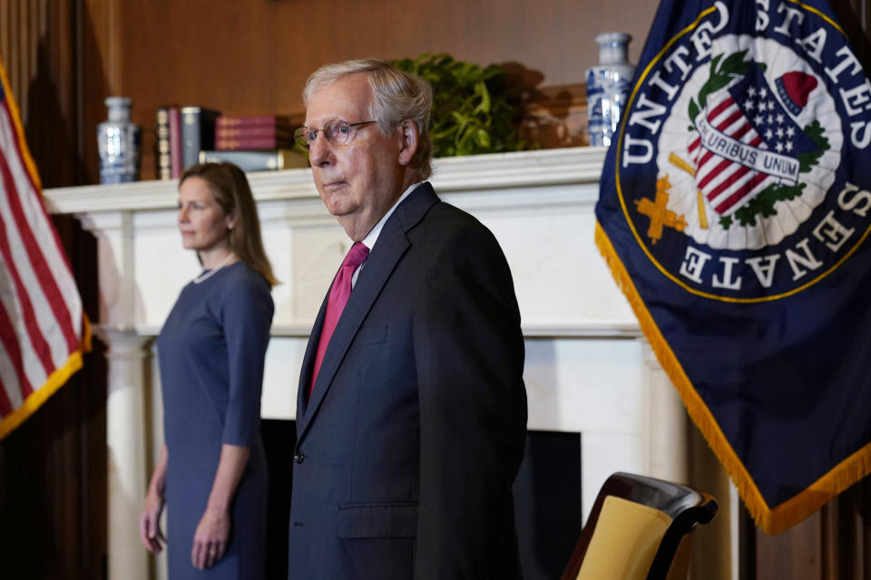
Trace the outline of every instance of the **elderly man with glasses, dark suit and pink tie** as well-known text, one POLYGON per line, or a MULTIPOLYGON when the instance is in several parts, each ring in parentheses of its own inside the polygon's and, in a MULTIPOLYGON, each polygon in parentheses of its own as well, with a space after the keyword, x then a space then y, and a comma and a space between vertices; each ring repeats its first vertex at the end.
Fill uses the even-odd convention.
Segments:
POLYGON ((299 379, 289 578, 518 578, 520 314, 493 234, 426 182, 432 90, 367 60, 303 99, 296 137, 354 244, 299 379))

